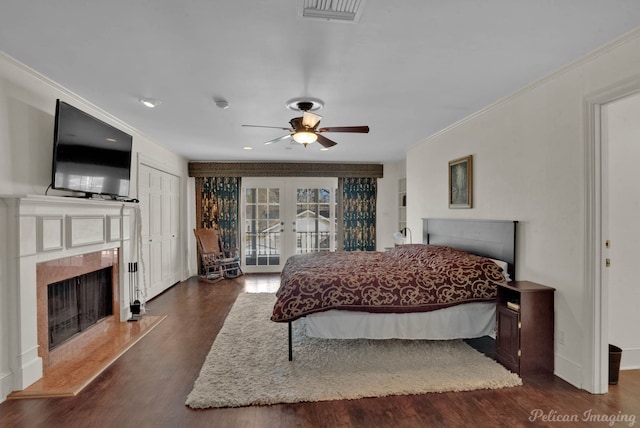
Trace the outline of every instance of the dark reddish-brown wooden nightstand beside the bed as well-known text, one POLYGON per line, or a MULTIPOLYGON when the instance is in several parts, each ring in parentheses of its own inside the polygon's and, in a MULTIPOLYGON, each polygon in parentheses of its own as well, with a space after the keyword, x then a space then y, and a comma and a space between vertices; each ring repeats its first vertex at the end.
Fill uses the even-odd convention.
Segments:
POLYGON ((498 284, 496 360, 520 375, 553 373, 553 293, 529 281, 498 284))

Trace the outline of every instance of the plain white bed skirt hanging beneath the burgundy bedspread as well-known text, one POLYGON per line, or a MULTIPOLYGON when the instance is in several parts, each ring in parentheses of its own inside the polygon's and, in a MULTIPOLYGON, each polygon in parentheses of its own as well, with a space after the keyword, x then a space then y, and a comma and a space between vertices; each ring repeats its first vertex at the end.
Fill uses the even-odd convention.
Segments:
POLYGON ((307 315, 304 323, 308 336, 325 339, 470 339, 495 335, 496 304, 473 302, 408 314, 330 310, 307 315))

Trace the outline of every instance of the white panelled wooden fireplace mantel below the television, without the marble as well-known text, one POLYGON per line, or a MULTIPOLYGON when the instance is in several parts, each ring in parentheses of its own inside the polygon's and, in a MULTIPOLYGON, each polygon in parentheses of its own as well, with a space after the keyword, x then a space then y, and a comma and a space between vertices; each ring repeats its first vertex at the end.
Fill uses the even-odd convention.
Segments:
MULTIPOLYGON (((120 266, 136 261, 136 239, 132 237, 139 218, 138 206, 102 199, 0 195, 0 208, 7 213, 6 225, 0 227, 6 228, 4 280, 9 304, 5 307, 10 326, 8 354, 3 355, 10 361, 10 374, 4 377, 3 387, 22 390, 43 373, 38 356, 37 264, 113 248, 119 249, 120 266)), ((130 317, 129 278, 125 271, 120 269, 119 281, 122 322, 130 317)))

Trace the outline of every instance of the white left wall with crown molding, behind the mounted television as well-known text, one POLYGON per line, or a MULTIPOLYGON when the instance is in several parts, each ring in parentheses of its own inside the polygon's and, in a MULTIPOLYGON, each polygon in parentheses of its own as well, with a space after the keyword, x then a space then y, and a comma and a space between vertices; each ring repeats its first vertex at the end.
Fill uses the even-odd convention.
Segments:
MULTIPOLYGON (((53 153, 53 129, 55 100, 60 98, 87 113, 108 122, 125 132, 133 135, 133 169, 131 173, 132 197, 136 192, 136 159, 143 155, 153 159, 157 165, 177 172, 181 176, 183 206, 181 217, 183 222, 182 234, 184 276, 186 278, 193 270, 193 263, 189 257, 190 248, 187 245, 190 230, 195 221, 193 215, 193 190, 188 187, 187 162, 180 156, 155 144, 140 132, 120 122, 117 118, 96 108, 70 91, 28 69, 12 58, 0 53, 0 194, 34 194, 43 195, 51 182, 51 157, 53 153), (189 191, 188 191, 189 189, 189 191)), ((51 195, 62 192, 50 191, 51 195)), ((3 205, 3 204, 0 204, 3 205)), ((15 326, 9 325, 10 311, 8 307, 9 294, 7 269, 7 212, 0 206, 0 401, 8 392, 12 391, 11 371, 8 352, 10 337, 15 334, 11 330, 15 326)), ((35 286, 35 284, 34 284, 35 286)))

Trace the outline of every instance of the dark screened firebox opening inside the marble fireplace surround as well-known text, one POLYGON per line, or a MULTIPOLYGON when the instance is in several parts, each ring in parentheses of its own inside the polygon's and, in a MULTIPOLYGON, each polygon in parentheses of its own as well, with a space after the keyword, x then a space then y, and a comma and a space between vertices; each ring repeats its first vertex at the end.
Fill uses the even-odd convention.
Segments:
POLYGON ((113 314, 112 269, 47 286, 49 350, 113 314))

